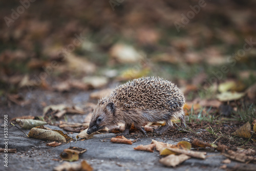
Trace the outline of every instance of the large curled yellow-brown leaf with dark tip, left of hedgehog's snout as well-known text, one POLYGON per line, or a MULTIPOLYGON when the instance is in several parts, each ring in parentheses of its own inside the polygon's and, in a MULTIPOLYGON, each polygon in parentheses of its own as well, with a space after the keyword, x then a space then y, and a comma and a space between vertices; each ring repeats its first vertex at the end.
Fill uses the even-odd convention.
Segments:
POLYGON ((30 138, 44 139, 49 141, 70 142, 73 139, 59 130, 51 130, 45 126, 33 127, 28 136, 30 138))

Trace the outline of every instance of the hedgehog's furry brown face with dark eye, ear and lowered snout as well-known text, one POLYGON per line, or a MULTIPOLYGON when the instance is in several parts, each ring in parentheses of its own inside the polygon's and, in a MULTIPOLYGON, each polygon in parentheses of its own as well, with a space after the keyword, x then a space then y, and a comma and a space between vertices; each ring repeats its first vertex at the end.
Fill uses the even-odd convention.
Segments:
POLYGON ((113 102, 100 100, 93 111, 87 134, 92 134, 95 131, 103 129, 105 126, 113 124, 114 112, 115 105, 113 102))

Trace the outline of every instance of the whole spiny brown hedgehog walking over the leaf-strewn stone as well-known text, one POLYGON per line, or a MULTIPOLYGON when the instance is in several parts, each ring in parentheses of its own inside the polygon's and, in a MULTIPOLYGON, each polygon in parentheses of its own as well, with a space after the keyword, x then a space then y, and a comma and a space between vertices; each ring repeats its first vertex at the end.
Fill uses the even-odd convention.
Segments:
POLYGON ((159 77, 134 79, 98 100, 87 134, 118 123, 125 125, 122 135, 129 135, 133 124, 146 136, 141 127, 146 122, 165 121, 164 126, 154 130, 158 134, 172 127, 172 120, 180 119, 185 127, 184 103, 184 94, 171 81, 159 77))

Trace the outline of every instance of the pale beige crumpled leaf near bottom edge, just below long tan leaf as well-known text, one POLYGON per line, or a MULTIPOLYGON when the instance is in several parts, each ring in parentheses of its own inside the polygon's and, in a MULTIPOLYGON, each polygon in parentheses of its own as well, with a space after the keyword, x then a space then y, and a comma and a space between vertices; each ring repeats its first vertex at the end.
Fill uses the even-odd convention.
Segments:
POLYGON ((190 159, 191 157, 181 154, 181 155, 169 155, 167 157, 164 157, 162 159, 159 160, 160 163, 162 163, 165 166, 172 166, 175 167, 179 164, 181 164, 182 162, 190 159))

